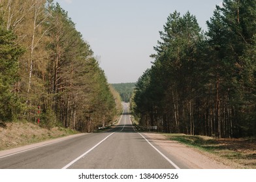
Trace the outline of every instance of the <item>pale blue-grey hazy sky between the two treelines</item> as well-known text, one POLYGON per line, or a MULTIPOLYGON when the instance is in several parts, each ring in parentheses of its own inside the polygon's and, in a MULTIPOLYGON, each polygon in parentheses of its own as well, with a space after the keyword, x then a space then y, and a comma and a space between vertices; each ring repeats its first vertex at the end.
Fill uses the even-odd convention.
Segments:
POLYGON ((221 0, 56 0, 91 45, 108 83, 136 82, 170 13, 189 11, 207 30, 221 0))

